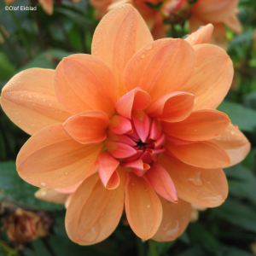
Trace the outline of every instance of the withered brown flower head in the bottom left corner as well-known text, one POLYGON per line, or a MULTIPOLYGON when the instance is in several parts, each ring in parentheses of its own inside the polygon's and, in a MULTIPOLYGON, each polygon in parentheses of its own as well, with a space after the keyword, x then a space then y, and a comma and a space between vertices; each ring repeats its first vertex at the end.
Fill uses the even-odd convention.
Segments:
POLYGON ((54 222, 47 212, 31 212, 22 208, 15 209, 2 221, 3 229, 7 230, 9 238, 23 246, 39 237, 48 236, 54 222))

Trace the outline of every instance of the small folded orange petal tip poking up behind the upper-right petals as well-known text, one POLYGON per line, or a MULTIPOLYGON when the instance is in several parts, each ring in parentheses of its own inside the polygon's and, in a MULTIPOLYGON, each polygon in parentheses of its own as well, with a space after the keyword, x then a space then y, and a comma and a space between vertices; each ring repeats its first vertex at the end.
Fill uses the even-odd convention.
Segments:
MULTIPOLYGON (((189 24, 191 24, 193 20, 189 20, 189 24)), ((196 24, 198 25, 198 24, 196 24)), ((195 26, 196 26, 195 25, 195 26)), ((201 24, 202 25, 202 24, 201 24)), ((190 32, 191 35, 189 35, 188 38, 185 40, 189 42, 191 45, 195 44, 209 44, 212 38, 212 32, 213 32, 213 26, 212 24, 207 24, 207 26, 201 26, 200 29, 197 28, 195 31, 195 26, 190 25, 191 29, 190 32)))

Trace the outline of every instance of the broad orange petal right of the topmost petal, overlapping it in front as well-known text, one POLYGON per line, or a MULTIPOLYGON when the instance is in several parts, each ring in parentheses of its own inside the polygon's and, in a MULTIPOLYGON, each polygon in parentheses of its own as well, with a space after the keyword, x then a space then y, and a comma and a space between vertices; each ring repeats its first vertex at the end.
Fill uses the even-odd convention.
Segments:
POLYGON ((133 55, 125 67, 125 86, 146 90, 152 101, 179 90, 195 68, 195 51, 185 40, 164 38, 133 55))

